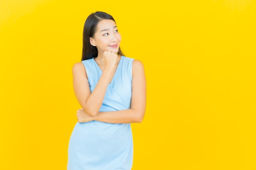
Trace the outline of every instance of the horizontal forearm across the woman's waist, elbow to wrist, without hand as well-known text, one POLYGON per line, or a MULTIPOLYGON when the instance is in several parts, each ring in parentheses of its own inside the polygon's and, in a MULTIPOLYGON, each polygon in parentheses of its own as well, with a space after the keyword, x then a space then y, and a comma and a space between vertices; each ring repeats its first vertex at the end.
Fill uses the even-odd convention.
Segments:
POLYGON ((118 110, 112 112, 99 112, 93 120, 112 124, 141 123, 144 118, 144 110, 118 110))

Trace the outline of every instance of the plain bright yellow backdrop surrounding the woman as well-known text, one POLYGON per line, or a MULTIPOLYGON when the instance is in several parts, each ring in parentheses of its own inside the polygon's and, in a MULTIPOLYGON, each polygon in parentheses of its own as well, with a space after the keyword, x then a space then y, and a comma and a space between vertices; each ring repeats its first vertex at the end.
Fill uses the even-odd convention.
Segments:
POLYGON ((144 63, 132 170, 256 169, 254 0, 0 0, 0 169, 63 170, 83 24, 110 13, 144 63))

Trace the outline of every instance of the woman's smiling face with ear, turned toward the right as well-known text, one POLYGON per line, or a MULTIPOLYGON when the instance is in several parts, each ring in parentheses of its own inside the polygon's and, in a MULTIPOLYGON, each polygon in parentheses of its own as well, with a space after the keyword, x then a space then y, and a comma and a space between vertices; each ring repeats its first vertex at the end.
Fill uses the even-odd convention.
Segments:
POLYGON ((120 42, 121 35, 113 20, 100 20, 94 37, 90 37, 90 43, 97 47, 98 53, 104 53, 104 51, 117 53, 120 42))

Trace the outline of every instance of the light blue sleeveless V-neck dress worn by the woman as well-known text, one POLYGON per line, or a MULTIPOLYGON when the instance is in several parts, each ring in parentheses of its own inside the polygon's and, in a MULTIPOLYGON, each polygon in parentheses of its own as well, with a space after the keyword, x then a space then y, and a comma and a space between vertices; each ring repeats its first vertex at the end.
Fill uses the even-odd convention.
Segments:
MULTIPOLYGON (((108 84, 100 112, 130 108, 133 60, 121 56, 112 82, 108 84)), ((94 58, 82 62, 90 90, 93 91, 102 71, 94 58)), ((100 121, 76 123, 68 147, 67 170, 131 170, 132 159, 130 124, 109 124, 100 121)))

